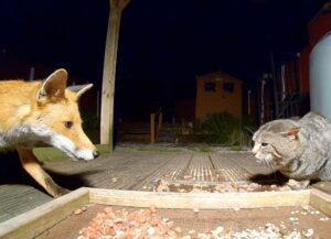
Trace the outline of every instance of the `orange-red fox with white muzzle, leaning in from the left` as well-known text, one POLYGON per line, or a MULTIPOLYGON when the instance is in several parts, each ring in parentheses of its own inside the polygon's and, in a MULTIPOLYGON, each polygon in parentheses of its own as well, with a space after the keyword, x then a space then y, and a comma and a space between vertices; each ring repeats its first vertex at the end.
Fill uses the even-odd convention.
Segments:
POLYGON ((0 82, 0 148, 15 149, 24 170, 52 196, 68 191, 41 167, 32 149, 50 144, 74 160, 93 160, 99 153, 82 129, 77 101, 93 85, 66 88, 67 72, 57 69, 45 80, 0 82))

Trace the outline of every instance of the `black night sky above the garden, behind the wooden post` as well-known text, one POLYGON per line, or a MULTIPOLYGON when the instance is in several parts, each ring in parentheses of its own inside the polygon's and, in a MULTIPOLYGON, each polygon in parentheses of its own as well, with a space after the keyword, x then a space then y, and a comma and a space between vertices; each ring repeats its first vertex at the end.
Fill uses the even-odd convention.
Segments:
MULTIPOLYGON (((121 15, 116 105, 193 99, 195 76, 254 82, 308 42, 322 0, 131 0, 121 15), (135 100, 132 100, 135 99, 135 100)), ((100 88, 108 0, 2 0, 0 47, 100 88)))

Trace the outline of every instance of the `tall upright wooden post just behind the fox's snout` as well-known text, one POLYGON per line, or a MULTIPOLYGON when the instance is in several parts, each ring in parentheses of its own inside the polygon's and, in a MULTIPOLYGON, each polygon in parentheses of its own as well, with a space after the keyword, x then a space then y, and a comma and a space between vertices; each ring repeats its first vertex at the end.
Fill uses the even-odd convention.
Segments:
POLYGON ((102 94, 100 143, 109 144, 110 150, 113 150, 115 76, 120 14, 124 8, 129 3, 129 0, 109 1, 110 13, 105 50, 102 94))

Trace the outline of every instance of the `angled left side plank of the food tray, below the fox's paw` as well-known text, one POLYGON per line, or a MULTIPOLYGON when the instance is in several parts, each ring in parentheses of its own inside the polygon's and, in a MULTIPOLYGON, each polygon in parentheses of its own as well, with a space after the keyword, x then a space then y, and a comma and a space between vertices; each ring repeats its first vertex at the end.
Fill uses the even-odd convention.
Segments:
POLYGON ((82 187, 6 220, 0 224, 0 238, 34 238, 66 218, 73 210, 87 204, 88 195, 88 188, 82 187))

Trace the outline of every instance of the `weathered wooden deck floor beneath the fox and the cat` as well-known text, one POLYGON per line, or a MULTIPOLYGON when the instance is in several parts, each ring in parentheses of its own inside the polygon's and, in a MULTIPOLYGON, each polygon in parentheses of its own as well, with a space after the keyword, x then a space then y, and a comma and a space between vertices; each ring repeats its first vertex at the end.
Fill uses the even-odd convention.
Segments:
MULTIPOLYGON (((24 174, 23 170, 17 174, 24 174)), ((90 162, 63 160, 44 167, 60 185, 75 189, 81 186, 152 191, 158 180, 173 182, 217 183, 248 181, 270 169, 256 163, 248 152, 122 152, 102 155, 90 162)), ((273 175, 273 174, 270 174, 273 175)), ((28 175, 21 181, 0 182, 0 221, 52 200, 28 175)), ((17 177, 15 177, 17 178, 17 177)))

